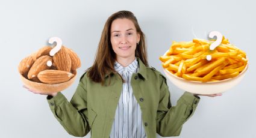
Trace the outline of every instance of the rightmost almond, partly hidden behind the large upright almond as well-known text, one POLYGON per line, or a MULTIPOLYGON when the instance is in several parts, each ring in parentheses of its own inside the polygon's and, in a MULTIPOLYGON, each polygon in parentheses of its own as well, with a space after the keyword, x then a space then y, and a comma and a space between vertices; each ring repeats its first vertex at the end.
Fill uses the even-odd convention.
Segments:
POLYGON ((69 54, 69 57, 71 59, 71 70, 76 70, 76 68, 80 68, 81 67, 81 61, 80 58, 78 57, 78 55, 73 52, 72 49, 69 49, 67 47, 64 47, 66 52, 69 54))

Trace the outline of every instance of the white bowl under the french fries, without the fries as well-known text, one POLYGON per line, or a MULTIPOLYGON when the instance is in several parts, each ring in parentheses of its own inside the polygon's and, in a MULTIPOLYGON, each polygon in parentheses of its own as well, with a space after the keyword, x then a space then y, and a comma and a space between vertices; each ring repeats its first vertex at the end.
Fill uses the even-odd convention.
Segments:
MULTIPOLYGON (((164 55, 166 55, 166 53, 164 55)), ((219 80, 216 82, 198 82, 186 80, 181 77, 175 76, 174 74, 170 73, 166 68, 163 68, 163 70, 170 82, 172 82, 178 88, 183 89, 184 91, 192 92, 194 94, 217 94, 225 92, 228 89, 236 86, 245 76, 247 68, 248 64, 238 76, 225 80, 219 80)))

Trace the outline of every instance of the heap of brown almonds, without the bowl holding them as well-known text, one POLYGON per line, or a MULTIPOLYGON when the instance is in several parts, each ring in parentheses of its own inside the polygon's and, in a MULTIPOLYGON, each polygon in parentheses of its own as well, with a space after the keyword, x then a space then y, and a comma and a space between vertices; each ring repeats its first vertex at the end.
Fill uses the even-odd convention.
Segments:
POLYGON ((75 74, 76 69, 81 67, 80 58, 71 49, 61 46, 61 49, 50 56, 51 46, 45 46, 38 52, 22 59, 19 63, 19 73, 33 82, 39 83, 61 83, 67 82, 75 74), (49 67, 47 61, 51 61, 49 67))

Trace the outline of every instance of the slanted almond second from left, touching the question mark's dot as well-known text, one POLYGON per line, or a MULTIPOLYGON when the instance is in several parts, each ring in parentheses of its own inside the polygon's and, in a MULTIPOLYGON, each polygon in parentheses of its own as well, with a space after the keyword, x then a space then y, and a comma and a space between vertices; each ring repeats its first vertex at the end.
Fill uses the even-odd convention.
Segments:
POLYGON ((52 61, 52 57, 45 55, 38 58, 30 68, 30 71, 28 71, 28 79, 36 77, 40 71, 48 70, 49 68, 51 68, 48 67, 48 65, 46 64, 47 61, 52 61))

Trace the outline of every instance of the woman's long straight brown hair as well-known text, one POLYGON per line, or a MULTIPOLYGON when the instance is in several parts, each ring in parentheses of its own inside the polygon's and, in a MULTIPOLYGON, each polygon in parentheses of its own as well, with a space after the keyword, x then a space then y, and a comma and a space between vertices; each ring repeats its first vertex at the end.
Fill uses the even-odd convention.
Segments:
POLYGON ((134 23, 137 33, 140 34, 140 41, 139 44, 137 44, 135 56, 139 57, 142 62, 148 66, 145 35, 143 34, 142 29, 140 29, 136 17, 131 11, 118 11, 108 17, 101 34, 101 40, 99 41, 95 61, 92 67, 87 70, 87 76, 94 82, 101 82, 102 85, 104 84, 106 74, 110 75, 109 73, 116 72, 114 70, 116 53, 114 53, 110 41, 111 24, 116 19, 129 19, 134 23))

